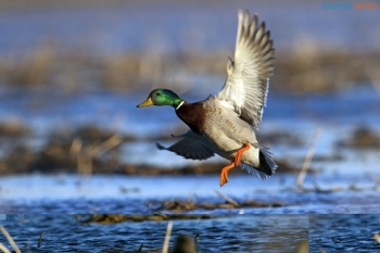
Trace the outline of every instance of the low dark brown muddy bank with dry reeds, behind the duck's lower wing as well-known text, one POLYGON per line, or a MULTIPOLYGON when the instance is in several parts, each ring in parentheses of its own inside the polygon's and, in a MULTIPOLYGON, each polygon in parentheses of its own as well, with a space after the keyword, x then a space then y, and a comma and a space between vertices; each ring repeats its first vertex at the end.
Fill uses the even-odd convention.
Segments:
MULTIPOLYGON (((182 167, 160 167, 144 164, 127 164, 121 161, 119 150, 110 151, 104 156, 75 156, 71 153, 72 144, 51 143, 43 150, 35 152, 27 147, 16 147, 0 161, 0 175, 29 174, 29 173, 78 173, 91 174, 125 174, 125 175, 218 175, 228 162, 210 163, 199 162, 197 165, 182 167), (23 157, 23 159, 20 159, 23 157), (86 160, 85 162, 83 160, 86 160), (85 164, 84 164, 85 163, 85 164), (87 164, 86 164, 87 163, 87 164), (89 165, 90 163, 90 165, 89 165)), ((276 161, 279 165, 277 173, 299 173, 300 167, 287 161, 276 161)), ((311 169, 309 173, 316 173, 311 169)), ((233 168, 229 175, 246 174, 241 168, 233 168)))

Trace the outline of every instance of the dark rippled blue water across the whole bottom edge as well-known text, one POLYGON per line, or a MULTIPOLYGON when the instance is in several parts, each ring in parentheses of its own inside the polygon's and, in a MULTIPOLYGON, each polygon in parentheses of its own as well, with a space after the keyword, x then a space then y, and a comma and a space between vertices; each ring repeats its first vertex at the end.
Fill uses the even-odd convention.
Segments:
MULTIPOLYGON (((23 252, 161 252, 167 222, 125 222, 84 225, 89 215, 0 215, 0 224, 23 252), (43 232, 38 248, 40 232, 43 232)), ((380 250, 378 214, 233 215, 211 219, 174 220, 169 248, 179 235, 199 237, 199 252, 295 252, 308 240, 309 252, 370 252, 380 250)), ((3 244, 11 249, 5 239, 3 244)))

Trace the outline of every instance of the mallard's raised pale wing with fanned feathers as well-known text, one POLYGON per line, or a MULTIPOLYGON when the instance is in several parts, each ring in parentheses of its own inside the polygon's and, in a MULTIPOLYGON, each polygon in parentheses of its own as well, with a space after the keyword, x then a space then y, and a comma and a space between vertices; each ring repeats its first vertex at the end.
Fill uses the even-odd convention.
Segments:
POLYGON ((239 11, 235 62, 228 59, 228 77, 216 97, 256 128, 262 121, 269 77, 274 74, 275 49, 269 37, 265 22, 258 26, 256 14, 251 20, 248 10, 245 14, 239 11))

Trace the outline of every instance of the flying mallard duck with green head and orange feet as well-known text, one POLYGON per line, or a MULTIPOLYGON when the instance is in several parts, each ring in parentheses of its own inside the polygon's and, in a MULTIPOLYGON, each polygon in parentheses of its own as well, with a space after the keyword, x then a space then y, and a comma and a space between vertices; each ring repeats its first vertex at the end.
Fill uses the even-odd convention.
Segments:
POLYGON ((206 100, 190 103, 168 89, 154 89, 138 107, 170 105, 190 129, 169 148, 186 159, 206 160, 215 153, 231 161, 220 173, 220 187, 228 182, 228 172, 237 166, 265 179, 277 164, 269 150, 256 140, 263 107, 274 73, 273 40, 265 22, 258 25, 255 14, 239 11, 235 61, 228 58, 227 79, 220 92, 206 100))

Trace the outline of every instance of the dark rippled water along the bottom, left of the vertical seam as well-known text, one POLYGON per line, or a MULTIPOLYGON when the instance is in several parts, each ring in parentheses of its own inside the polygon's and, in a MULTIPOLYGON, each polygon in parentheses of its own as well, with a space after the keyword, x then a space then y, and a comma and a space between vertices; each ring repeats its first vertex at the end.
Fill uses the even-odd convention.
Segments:
MULTIPOLYGON (((81 225, 73 215, 25 215, 18 220, 0 220, 23 252, 162 252, 167 222, 81 225), (43 232, 41 248, 37 248, 43 232), (111 251, 114 250, 114 251, 111 251)), ((295 251, 307 239, 306 215, 233 216, 199 220, 174 220, 172 249, 179 235, 200 233, 199 252, 295 251), (290 243, 289 243, 290 242, 290 243)), ((3 241, 2 241, 3 242, 3 241)), ((4 243, 11 249, 9 243, 4 243)))

